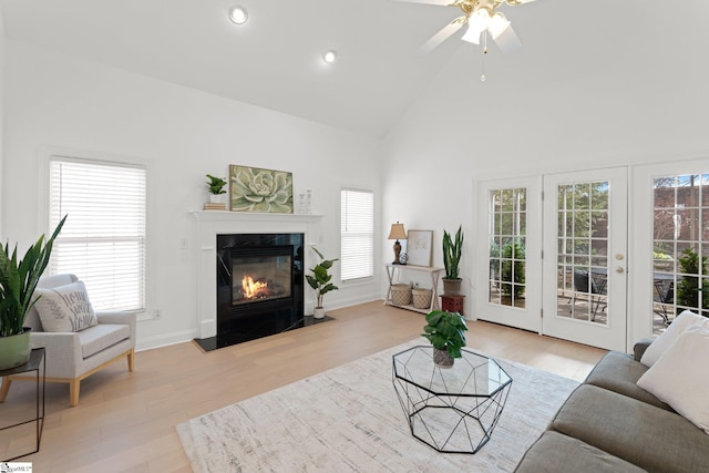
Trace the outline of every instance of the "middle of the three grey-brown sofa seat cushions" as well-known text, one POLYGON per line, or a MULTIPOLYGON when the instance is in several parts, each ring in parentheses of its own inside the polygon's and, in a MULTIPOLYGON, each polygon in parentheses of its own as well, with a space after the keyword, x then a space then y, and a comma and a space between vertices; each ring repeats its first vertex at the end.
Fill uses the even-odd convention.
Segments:
POLYGON ((706 471, 709 436, 681 415, 590 384, 572 393, 554 430, 650 472, 706 471))

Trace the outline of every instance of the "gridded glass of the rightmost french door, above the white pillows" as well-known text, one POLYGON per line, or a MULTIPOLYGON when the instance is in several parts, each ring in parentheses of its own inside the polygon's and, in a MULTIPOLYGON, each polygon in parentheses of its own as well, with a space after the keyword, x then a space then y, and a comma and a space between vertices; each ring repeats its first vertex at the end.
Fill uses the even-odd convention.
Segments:
POLYGON ((709 317, 709 174, 654 181, 653 332, 682 310, 709 317))

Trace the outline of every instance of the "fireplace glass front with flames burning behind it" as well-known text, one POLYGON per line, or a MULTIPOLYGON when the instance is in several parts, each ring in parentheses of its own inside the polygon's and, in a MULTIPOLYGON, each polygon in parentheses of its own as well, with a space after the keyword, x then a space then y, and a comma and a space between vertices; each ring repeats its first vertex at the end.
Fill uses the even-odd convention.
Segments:
POLYGON ((244 255, 232 258, 232 304, 291 297, 291 255, 244 255))

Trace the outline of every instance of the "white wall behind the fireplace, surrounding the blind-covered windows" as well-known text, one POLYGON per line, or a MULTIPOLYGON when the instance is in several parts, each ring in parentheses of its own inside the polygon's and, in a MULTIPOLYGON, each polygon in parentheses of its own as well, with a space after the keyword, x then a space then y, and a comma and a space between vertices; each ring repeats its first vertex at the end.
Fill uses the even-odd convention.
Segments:
MULTIPOLYGON (((47 150, 148 167, 147 313, 162 309, 163 317, 141 322, 138 348, 195 336, 196 222, 188 212, 207 198, 206 173, 226 175, 229 164, 292 172, 295 193, 312 189, 314 212, 325 215, 318 248, 326 257, 339 254, 340 187, 380 191, 376 140, 14 41, 6 59, 3 237, 22 246, 48 230, 47 150)), ((379 297, 380 277, 340 285, 328 307, 379 297)))

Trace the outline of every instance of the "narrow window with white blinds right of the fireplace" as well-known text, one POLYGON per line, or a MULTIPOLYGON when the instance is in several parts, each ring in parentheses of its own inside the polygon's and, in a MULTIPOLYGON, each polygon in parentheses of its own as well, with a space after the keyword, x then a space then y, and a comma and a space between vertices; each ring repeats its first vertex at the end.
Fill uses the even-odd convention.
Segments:
POLYGON ((342 189, 340 279, 369 278, 374 271, 374 194, 342 189))

